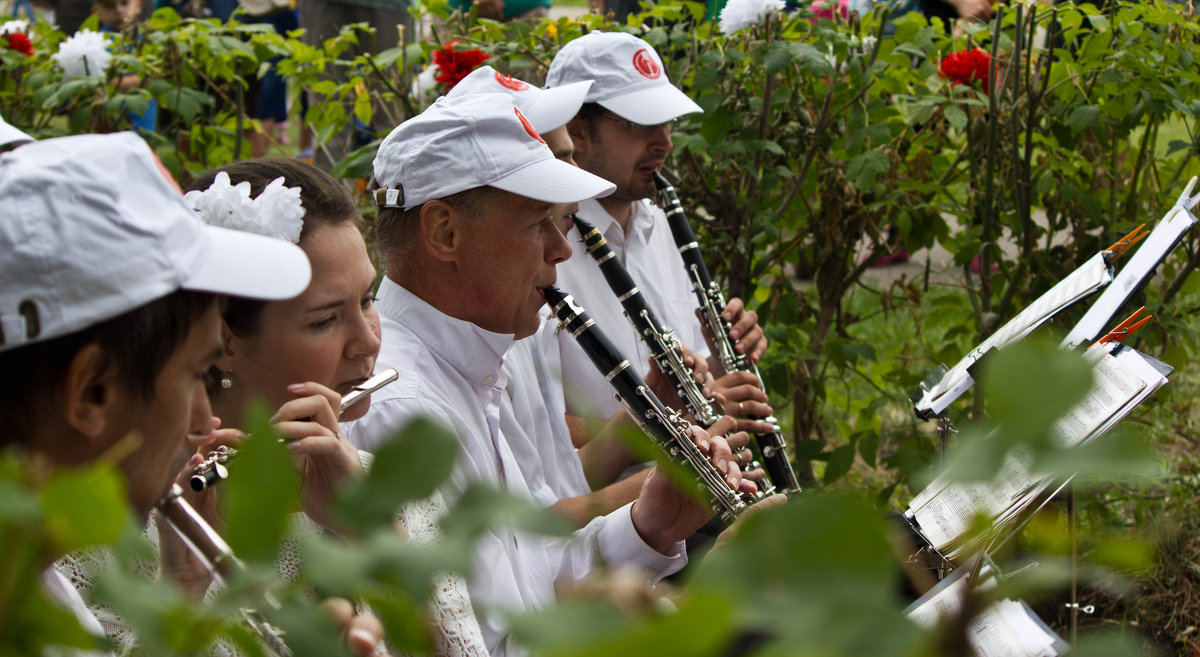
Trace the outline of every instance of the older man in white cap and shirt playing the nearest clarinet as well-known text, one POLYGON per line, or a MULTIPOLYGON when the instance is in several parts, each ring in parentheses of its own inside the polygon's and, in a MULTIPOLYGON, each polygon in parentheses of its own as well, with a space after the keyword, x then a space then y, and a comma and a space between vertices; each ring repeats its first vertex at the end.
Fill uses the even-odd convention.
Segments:
MULTIPOLYGON (((407 422, 432 416, 454 429, 461 446, 445 489, 450 501, 480 481, 532 501, 505 435, 510 406, 502 364, 514 339, 541 325, 544 290, 571 254, 553 221, 554 204, 604 195, 613 186, 556 159, 500 94, 442 98, 409 119, 379 146, 374 176, 386 271, 377 300, 378 367, 397 367, 401 375, 372 398, 371 411, 347 435, 370 450, 407 422)), ((692 436, 732 490, 755 490, 724 439, 700 428, 692 436)), ((686 561, 683 540, 712 514, 655 471, 636 502, 569 540, 490 530, 476 543, 468 578, 490 652, 520 653, 505 615, 552 602, 556 585, 587 577, 596 562, 637 566, 655 578, 677 571, 686 561)))

